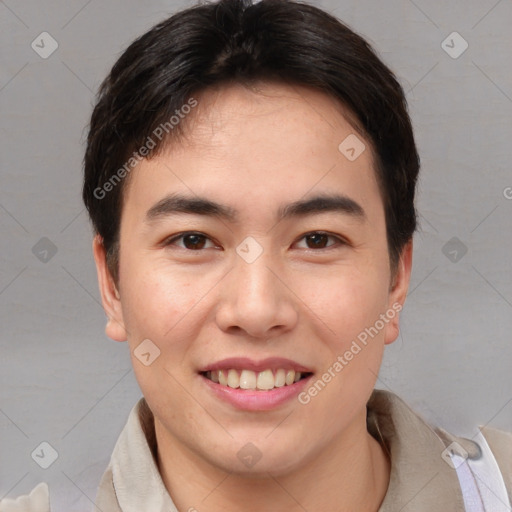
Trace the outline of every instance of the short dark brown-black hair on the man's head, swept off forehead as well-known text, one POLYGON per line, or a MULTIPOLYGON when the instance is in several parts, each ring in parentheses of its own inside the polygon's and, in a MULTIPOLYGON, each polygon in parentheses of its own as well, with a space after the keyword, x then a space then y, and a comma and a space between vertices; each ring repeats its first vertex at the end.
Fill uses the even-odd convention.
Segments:
POLYGON ((365 39, 317 7, 293 0, 219 0, 155 25, 130 44, 100 86, 82 196, 116 284, 123 189, 136 160, 179 140, 185 121, 172 119, 193 105, 194 94, 265 81, 313 87, 353 114, 373 149, 396 268, 416 229, 420 160, 395 75, 365 39))

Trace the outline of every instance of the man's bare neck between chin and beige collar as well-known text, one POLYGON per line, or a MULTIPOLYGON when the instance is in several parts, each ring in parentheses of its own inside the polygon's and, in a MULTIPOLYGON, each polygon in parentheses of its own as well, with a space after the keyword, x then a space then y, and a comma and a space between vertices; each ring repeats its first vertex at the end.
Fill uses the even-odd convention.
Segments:
POLYGON ((377 512, 388 488, 390 463, 366 430, 366 410, 359 420, 292 471, 254 476, 210 464, 155 421, 158 466, 180 511, 377 512))

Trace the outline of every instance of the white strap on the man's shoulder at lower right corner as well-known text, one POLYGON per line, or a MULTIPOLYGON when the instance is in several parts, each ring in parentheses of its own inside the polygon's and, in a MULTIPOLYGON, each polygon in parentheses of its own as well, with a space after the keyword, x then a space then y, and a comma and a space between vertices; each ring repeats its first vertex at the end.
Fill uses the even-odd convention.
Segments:
POLYGON ((450 452, 466 512, 512 512, 503 475, 485 437, 479 432, 474 439, 482 453, 478 459, 450 452))

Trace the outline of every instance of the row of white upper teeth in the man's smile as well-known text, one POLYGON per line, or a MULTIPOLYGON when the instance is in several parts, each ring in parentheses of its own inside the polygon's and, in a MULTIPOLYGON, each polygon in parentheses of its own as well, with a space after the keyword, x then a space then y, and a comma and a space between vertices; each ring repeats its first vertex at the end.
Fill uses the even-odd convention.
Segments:
POLYGON ((249 389, 269 391, 274 388, 283 386, 291 386, 294 382, 298 382, 301 372, 294 370, 284 370, 280 368, 275 375, 272 370, 264 370, 256 373, 252 370, 216 370, 206 372, 206 377, 221 386, 229 386, 230 388, 249 389))

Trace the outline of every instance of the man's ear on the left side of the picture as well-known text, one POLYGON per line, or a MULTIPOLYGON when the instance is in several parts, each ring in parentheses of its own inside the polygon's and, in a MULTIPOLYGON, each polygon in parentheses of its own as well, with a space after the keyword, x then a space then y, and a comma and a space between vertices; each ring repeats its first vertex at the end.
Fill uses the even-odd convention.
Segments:
POLYGON ((123 310, 121 308, 121 296, 108 269, 106 251, 100 235, 96 235, 92 241, 92 252, 98 273, 101 302, 108 317, 105 334, 115 341, 126 341, 127 336, 123 320, 123 310))

